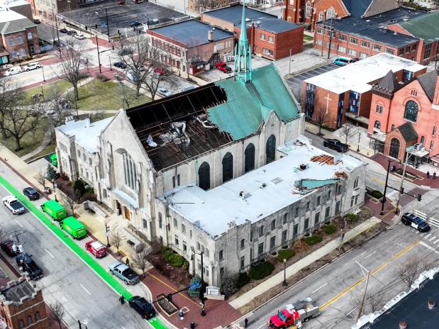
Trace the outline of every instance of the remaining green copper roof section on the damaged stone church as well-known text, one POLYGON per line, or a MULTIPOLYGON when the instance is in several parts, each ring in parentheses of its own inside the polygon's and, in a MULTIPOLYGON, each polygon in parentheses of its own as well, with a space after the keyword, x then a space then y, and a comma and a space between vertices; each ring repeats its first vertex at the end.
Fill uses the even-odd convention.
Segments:
POLYGON ((216 82, 227 94, 227 101, 209 108, 209 120, 218 129, 240 140, 257 132, 271 111, 287 122, 300 116, 300 110, 274 64, 252 70, 251 82, 235 79, 216 82))

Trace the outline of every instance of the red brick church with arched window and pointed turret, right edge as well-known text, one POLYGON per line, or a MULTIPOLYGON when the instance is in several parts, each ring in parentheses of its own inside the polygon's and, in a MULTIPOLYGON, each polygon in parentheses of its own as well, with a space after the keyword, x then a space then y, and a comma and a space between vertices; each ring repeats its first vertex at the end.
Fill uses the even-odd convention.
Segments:
POLYGON ((439 163, 439 70, 400 84, 391 72, 372 88, 368 133, 378 151, 410 162, 439 163), (416 145, 416 146, 415 146, 416 145))

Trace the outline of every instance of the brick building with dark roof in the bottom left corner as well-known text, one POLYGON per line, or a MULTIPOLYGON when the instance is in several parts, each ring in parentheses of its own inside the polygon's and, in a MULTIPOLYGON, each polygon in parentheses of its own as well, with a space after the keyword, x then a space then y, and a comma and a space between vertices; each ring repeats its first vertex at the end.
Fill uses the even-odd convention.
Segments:
POLYGON ((10 281, 7 286, 2 286, 0 323, 11 329, 49 329, 41 289, 36 289, 25 279, 10 281))

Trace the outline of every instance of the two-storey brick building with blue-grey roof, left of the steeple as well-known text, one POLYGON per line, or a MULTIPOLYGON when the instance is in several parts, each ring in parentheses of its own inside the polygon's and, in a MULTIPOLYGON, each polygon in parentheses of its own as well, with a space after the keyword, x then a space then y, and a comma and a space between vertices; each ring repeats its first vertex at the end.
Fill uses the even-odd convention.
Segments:
POLYGON ((233 56, 233 33, 190 20, 147 31, 151 45, 159 48, 160 61, 196 74, 206 63, 227 62, 233 56))

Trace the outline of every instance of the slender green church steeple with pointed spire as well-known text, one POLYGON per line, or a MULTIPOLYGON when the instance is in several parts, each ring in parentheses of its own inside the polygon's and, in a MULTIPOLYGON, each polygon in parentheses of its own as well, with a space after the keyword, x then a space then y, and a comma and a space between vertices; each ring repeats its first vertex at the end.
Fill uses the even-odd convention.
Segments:
POLYGON ((238 44, 235 46, 235 79, 248 82, 252 79, 252 53, 248 45, 247 24, 245 22, 245 0, 238 44))

